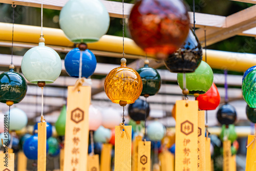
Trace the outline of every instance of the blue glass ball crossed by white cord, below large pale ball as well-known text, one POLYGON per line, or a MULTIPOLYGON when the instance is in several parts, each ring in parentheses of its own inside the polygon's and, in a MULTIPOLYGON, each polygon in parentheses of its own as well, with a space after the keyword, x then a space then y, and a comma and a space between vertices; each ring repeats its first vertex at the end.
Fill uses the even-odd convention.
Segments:
POLYGON ((79 77, 80 52, 82 52, 82 77, 88 78, 93 75, 97 64, 95 55, 89 49, 85 51, 72 49, 65 57, 65 68, 69 76, 79 77))

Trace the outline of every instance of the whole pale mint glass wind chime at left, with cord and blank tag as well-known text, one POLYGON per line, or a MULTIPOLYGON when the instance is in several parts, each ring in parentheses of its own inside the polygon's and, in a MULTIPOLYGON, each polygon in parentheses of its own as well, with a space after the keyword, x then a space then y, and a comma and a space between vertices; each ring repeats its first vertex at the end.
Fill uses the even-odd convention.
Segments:
POLYGON ((44 119, 44 87, 53 83, 61 73, 61 59, 57 52, 45 46, 42 29, 42 1, 41 1, 41 34, 39 45, 28 50, 22 59, 22 71, 25 78, 41 88, 41 119, 38 126, 37 170, 46 171, 47 156, 47 122, 44 119))

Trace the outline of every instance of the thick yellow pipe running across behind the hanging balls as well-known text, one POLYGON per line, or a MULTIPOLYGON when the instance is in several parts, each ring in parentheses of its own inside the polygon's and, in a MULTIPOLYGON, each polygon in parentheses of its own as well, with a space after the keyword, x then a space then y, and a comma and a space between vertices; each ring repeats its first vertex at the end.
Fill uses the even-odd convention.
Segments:
MULTIPOLYGON (((27 25, 14 25, 14 41, 38 43, 40 27, 27 25)), ((71 42, 61 29, 43 28, 46 39, 46 45, 73 47, 71 42)), ((12 24, 0 23, 0 41, 12 40, 12 24)), ((88 45, 89 49, 122 53, 122 37, 104 35, 99 41, 88 45)), ((144 56, 144 52, 130 38, 124 39, 124 53, 130 55, 144 56)), ((203 60, 205 60, 203 50, 203 60)), ((154 56, 151 56, 154 58, 154 56)), ((256 65, 256 55, 248 53, 225 52, 216 50, 207 50, 207 63, 211 68, 226 69, 232 71, 244 72, 251 66, 256 65)))

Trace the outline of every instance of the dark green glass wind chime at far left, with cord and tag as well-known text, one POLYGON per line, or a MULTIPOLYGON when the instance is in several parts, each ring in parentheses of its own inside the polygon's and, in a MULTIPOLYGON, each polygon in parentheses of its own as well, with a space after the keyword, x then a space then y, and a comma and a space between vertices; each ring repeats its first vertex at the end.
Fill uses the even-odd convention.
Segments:
MULTIPOLYGON (((9 135, 10 135, 10 112, 11 106, 14 103, 19 103, 23 100, 27 92, 27 82, 25 78, 17 72, 14 72, 13 65, 13 35, 14 35, 14 13, 15 13, 14 3, 12 4, 13 15, 12 15, 12 47, 11 47, 11 65, 9 66, 9 71, 4 72, 0 75, 0 102, 6 103, 9 106, 9 113, 4 115, 4 139, 1 139, 1 142, 4 146, 4 155, 7 154, 7 165, 1 168, 12 169, 14 170, 14 153, 11 149, 11 144, 9 145, 9 135), (9 148, 9 149, 8 149, 9 148), (13 161, 13 162, 12 162, 13 161)), ((2 158, 2 155, 1 158, 2 158)), ((3 162, 1 165, 5 165, 3 162)))

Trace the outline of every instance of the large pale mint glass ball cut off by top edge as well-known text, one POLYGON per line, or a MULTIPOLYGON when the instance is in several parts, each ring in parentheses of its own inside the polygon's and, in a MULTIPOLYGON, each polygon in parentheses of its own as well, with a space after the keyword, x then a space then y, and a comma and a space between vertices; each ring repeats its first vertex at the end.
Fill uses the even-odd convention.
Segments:
POLYGON ((110 16, 100 0, 70 0, 60 11, 59 26, 75 43, 94 42, 108 31, 110 16))

